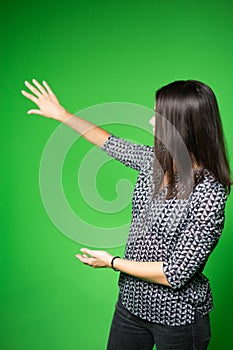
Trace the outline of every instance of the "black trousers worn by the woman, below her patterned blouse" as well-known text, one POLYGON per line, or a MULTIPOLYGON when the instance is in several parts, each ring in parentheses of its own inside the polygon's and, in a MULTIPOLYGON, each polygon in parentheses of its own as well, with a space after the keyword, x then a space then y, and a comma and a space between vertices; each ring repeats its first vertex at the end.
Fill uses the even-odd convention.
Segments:
POLYGON ((211 338, 209 314, 195 315, 195 323, 164 326, 142 320, 116 303, 107 350, 206 350, 211 338))

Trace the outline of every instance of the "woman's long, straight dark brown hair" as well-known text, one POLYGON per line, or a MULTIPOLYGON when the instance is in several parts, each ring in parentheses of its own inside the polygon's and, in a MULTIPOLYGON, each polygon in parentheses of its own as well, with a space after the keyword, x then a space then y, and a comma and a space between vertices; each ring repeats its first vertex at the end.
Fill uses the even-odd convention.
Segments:
POLYGON ((163 172, 167 172, 166 198, 177 195, 175 169, 183 174, 179 181, 186 189, 201 181, 202 176, 194 175, 194 161, 201 169, 199 175, 208 170, 229 194, 230 167, 212 89, 197 80, 174 81, 156 91, 155 105, 154 152, 163 172))

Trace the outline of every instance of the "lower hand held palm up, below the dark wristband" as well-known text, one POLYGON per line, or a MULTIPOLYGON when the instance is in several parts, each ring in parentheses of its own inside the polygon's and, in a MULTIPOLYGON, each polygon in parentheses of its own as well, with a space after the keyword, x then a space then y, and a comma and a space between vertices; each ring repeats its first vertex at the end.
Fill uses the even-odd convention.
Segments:
POLYGON ((78 258, 85 265, 89 265, 92 267, 111 267, 111 261, 113 255, 105 252, 104 250, 90 250, 87 248, 80 249, 83 255, 76 254, 76 258, 78 258), (88 255, 91 255, 89 257, 88 255))

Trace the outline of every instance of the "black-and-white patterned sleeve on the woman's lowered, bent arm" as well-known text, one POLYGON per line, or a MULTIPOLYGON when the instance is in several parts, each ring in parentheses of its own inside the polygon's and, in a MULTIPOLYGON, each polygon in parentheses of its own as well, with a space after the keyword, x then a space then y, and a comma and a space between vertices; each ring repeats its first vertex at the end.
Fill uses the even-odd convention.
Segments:
POLYGON ((180 233, 172 255, 163 262, 163 271, 174 289, 183 287, 204 265, 224 227, 226 192, 218 183, 197 185, 191 201, 188 224, 180 233), (207 187, 207 188, 206 188, 207 187))

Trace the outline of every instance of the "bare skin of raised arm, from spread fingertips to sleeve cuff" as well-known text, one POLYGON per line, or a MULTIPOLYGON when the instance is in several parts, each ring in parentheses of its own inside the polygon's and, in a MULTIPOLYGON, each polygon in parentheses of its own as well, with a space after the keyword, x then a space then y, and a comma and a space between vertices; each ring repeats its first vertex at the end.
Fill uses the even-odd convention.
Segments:
POLYGON ((32 82, 35 86, 28 81, 25 81, 25 85, 33 94, 25 90, 21 92, 25 97, 34 102, 39 109, 31 109, 27 112, 28 114, 39 114, 47 118, 58 120, 77 131, 87 141, 99 147, 103 146, 111 135, 108 131, 68 112, 60 105, 58 98, 45 81, 43 81, 44 86, 39 84, 36 79, 33 79, 32 82))

